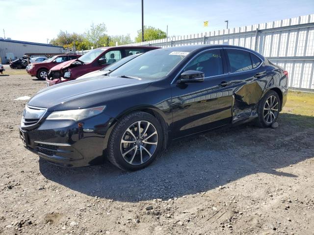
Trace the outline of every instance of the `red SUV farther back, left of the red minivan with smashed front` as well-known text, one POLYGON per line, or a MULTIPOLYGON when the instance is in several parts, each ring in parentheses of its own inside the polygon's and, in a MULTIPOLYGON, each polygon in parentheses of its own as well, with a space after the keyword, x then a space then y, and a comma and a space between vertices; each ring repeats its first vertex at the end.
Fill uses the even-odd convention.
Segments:
POLYGON ((26 70, 32 77, 37 77, 38 79, 46 79, 48 71, 57 64, 63 63, 65 61, 74 60, 79 58, 81 55, 77 54, 61 54, 55 55, 50 59, 47 59, 39 63, 29 64, 26 70))

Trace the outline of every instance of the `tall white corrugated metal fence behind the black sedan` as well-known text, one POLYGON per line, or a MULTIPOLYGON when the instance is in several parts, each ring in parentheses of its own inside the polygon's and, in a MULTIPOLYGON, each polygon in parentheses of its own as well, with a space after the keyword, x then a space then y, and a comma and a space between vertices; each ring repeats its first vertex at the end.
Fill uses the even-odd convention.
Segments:
POLYGON ((124 46, 223 44, 258 51, 289 72, 289 87, 314 91, 314 14, 124 46))

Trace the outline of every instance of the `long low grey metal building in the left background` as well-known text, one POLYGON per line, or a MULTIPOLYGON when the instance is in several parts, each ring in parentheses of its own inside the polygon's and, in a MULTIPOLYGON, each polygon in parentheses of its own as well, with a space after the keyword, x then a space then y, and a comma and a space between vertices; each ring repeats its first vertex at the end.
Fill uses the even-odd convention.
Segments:
POLYGON ((14 59, 21 58, 25 53, 38 53, 45 55, 49 53, 63 53, 62 47, 51 45, 35 44, 28 42, 14 42, 14 40, 0 40, 0 58, 1 63, 7 63, 6 53, 13 53, 14 59))

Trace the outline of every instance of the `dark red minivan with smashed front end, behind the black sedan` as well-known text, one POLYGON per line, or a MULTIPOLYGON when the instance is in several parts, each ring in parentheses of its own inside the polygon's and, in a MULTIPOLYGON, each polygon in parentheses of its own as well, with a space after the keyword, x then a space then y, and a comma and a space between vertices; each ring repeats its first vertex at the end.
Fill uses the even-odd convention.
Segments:
POLYGON ((105 68, 122 58, 160 47, 100 47, 93 49, 76 60, 54 66, 46 78, 47 86, 74 80, 88 72, 105 68))

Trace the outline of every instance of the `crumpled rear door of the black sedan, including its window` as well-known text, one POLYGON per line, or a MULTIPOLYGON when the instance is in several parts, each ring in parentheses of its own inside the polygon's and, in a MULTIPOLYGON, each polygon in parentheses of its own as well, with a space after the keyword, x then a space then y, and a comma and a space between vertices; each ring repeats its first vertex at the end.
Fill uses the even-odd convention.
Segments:
POLYGON ((225 48, 228 80, 237 84, 233 95, 232 122, 249 118, 258 105, 267 82, 267 72, 262 59, 250 51, 237 48, 225 48))

